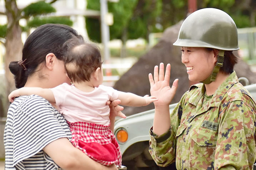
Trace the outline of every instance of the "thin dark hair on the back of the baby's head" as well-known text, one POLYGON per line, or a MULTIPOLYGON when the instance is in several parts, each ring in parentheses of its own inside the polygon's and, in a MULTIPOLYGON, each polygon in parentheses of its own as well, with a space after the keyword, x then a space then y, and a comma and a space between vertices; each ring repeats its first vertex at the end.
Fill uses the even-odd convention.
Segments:
POLYGON ((102 66, 99 47, 93 43, 71 39, 64 46, 65 69, 72 82, 90 81, 91 74, 102 66))

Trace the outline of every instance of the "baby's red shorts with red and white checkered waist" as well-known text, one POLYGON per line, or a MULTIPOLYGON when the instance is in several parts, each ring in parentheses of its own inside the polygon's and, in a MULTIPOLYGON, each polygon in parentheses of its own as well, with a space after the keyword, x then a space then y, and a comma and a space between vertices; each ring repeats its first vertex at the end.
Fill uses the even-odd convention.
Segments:
POLYGON ((100 125, 86 122, 68 122, 72 139, 71 143, 90 158, 103 165, 121 165, 122 154, 109 129, 109 125, 100 125))

